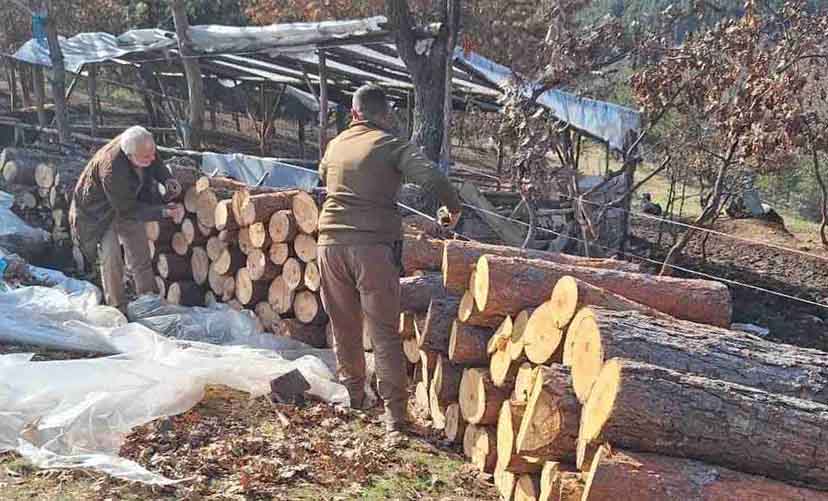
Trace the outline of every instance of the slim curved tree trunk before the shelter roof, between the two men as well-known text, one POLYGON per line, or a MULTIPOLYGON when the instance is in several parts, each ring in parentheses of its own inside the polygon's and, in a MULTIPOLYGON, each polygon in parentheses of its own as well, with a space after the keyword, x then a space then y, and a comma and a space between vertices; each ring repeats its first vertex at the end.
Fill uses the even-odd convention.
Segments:
POLYGON ((178 37, 178 50, 187 77, 187 102, 190 107, 189 133, 184 134, 184 148, 198 149, 201 147, 201 134, 204 129, 204 82, 201 79, 201 65, 191 49, 187 10, 183 0, 171 0, 175 34, 178 37))

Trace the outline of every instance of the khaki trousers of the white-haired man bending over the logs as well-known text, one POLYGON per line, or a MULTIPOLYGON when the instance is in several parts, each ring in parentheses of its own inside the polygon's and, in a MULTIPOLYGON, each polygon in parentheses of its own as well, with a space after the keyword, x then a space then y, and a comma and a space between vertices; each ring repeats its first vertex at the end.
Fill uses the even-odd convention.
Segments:
POLYGON ((139 296, 156 292, 149 240, 144 223, 114 221, 101 239, 99 257, 104 299, 106 304, 116 308, 126 307, 127 304, 121 244, 124 246, 126 264, 135 282, 135 292, 139 296))

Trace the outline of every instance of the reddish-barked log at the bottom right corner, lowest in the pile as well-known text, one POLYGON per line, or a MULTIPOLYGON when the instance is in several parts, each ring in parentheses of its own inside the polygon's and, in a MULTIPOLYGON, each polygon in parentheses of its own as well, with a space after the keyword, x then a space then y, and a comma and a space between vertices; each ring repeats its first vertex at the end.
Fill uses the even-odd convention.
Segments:
POLYGON ((826 501, 828 492, 794 487, 692 459, 602 446, 592 461, 584 501, 826 501), (699 479, 704 479, 699 481, 699 479))

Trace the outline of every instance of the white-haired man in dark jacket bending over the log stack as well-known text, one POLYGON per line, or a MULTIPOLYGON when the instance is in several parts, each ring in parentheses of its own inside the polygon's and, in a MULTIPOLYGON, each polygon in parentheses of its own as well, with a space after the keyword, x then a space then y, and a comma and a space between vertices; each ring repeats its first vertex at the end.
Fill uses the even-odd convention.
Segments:
POLYGON ((181 185, 156 157, 152 134, 135 126, 98 150, 75 186, 69 212, 73 238, 90 263, 100 258, 106 303, 122 311, 127 299, 121 244, 136 292, 155 292, 144 222, 184 215, 179 204, 156 202, 158 183, 164 184, 168 199, 181 193, 181 185))

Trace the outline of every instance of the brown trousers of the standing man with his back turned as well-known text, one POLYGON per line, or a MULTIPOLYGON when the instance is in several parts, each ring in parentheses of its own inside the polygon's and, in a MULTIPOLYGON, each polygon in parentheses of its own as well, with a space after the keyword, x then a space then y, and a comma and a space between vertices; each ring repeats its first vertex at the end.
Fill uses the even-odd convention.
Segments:
POLYGON ((319 247, 322 303, 331 322, 340 380, 352 405, 365 398, 363 331, 374 345, 387 417, 406 419, 408 376, 399 335, 400 271, 390 245, 319 247))

